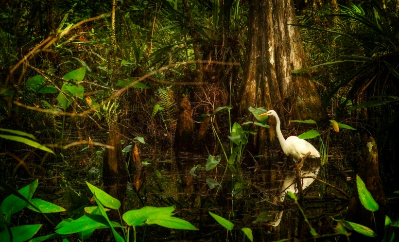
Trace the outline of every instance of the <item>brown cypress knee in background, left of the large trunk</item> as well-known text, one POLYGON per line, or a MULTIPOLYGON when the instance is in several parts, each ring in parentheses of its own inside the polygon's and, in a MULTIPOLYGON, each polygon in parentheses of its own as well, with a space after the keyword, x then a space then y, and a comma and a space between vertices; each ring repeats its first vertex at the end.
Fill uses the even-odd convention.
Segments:
POLYGON ((174 134, 174 146, 189 148, 192 144, 194 122, 191 118, 192 109, 190 101, 183 94, 179 100, 177 111, 176 132, 174 134))

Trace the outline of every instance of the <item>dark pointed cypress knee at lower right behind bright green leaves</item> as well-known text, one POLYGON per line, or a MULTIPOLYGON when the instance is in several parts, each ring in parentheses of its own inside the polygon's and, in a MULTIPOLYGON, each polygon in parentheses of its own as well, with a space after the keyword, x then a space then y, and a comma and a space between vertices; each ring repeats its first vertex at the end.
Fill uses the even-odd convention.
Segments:
MULTIPOLYGON (((349 201, 346 220, 361 224, 371 228, 378 234, 378 241, 382 241, 384 236, 384 223, 385 223, 385 194, 382 187, 382 181, 378 171, 378 150, 377 144, 373 137, 367 139, 367 145, 363 152, 364 160, 360 165, 359 176, 364 181, 367 190, 371 193, 374 200, 378 203, 379 209, 374 212, 375 222, 373 213, 368 211, 359 200, 359 193, 355 187, 352 198, 349 201)), ((355 231, 349 237, 351 241, 376 241, 375 238, 366 237, 355 231)), ((341 241, 347 241, 346 238, 342 238, 341 241)))

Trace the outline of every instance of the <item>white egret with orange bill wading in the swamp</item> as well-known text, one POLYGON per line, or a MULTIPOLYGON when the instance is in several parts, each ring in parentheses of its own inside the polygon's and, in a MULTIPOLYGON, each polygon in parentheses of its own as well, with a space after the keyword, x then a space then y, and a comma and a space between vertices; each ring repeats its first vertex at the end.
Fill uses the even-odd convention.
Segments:
POLYGON ((283 137, 283 134, 280 130, 280 119, 278 118, 276 111, 270 110, 267 113, 260 114, 259 117, 266 115, 276 118, 276 132, 278 141, 280 142, 281 149, 286 156, 292 156, 295 162, 299 161, 308 152, 311 152, 311 155, 309 156, 310 158, 320 157, 320 153, 316 150, 316 148, 314 148, 313 145, 305 139, 301 139, 296 136, 290 136, 287 139, 283 137))

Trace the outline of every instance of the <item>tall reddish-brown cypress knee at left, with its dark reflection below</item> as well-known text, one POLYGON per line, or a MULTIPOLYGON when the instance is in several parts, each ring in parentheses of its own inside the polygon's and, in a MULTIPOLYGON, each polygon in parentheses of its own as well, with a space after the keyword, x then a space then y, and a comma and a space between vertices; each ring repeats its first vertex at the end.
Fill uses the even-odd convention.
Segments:
MULTIPOLYGON (((123 201, 126 194, 127 172, 126 163, 122 155, 121 137, 117 123, 109 126, 107 144, 114 149, 106 149, 103 158, 104 191, 121 202, 120 213, 123 214, 123 201)), ((119 220, 117 210, 111 210, 113 220, 119 220)))

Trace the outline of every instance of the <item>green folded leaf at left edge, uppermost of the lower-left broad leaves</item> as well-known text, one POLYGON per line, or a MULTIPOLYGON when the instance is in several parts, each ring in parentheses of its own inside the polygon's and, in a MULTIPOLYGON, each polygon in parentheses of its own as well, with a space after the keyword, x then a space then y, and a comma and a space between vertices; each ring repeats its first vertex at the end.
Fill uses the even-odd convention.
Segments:
MULTIPOLYGON (((37 188, 38 181, 37 179, 29 184, 28 186, 25 186, 21 189, 18 190, 18 192, 23 195, 26 199, 30 200, 32 199, 33 193, 35 193, 35 190, 37 188)), ((3 202, 1 203, 0 210, 2 214, 13 214, 16 212, 19 212, 24 208, 28 203, 20 198, 18 198, 16 195, 12 194, 6 197, 3 202)))

